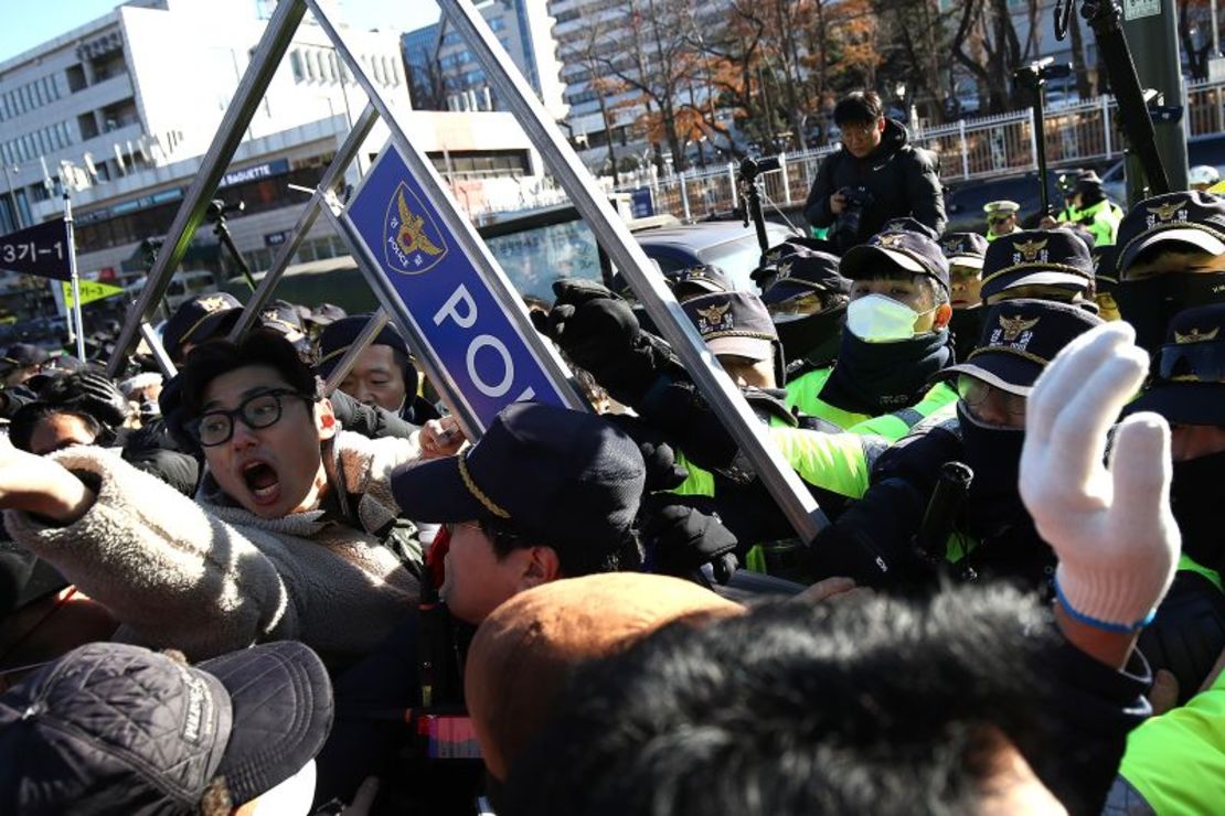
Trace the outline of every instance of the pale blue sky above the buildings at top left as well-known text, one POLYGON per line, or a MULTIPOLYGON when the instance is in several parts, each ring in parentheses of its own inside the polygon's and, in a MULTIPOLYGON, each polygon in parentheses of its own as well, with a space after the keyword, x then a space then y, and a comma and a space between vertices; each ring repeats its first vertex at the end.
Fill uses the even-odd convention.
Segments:
MULTIPOLYGON (((251 0, 252 7, 255 2, 251 0)), ((0 20, 5 21, 0 26, 0 61, 97 20, 118 5, 121 0, 0 0, 0 20)), ((341 9, 358 28, 412 31, 439 17, 430 0, 341 0, 341 9)))

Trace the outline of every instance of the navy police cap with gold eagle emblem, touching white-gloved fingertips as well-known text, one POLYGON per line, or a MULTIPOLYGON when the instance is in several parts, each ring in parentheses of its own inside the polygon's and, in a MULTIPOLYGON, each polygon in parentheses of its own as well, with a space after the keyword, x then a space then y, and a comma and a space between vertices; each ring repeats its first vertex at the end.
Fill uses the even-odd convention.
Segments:
POLYGON ((1055 355, 1102 319, 1079 306, 1019 299, 990 307, 982 334, 965 362, 944 368, 941 379, 970 374, 1012 394, 1028 395, 1055 355))

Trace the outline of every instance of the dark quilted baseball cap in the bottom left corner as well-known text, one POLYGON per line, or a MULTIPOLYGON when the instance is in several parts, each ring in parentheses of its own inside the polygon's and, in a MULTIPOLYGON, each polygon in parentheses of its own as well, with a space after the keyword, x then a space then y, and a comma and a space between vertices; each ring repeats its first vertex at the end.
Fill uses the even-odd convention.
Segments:
POLYGON ((89 644, 0 697, 0 812, 196 812, 224 776, 235 805, 294 776, 332 727, 332 684, 281 641, 187 667, 89 644))

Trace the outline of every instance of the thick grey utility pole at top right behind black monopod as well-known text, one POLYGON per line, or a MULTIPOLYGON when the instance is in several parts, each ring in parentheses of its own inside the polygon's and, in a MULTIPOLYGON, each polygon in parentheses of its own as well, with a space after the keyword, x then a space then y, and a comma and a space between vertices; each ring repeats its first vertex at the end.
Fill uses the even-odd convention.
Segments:
MULTIPOLYGON (((1187 116, 1182 84, 1182 59, 1178 49, 1178 16, 1174 0, 1123 0, 1123 33, 1142 88, 1161 94, 1160 108, 1153 109, 1156 149, 1170 180, 1170 190, 1187 188, 1187 116)), ((1121 115, 1128 115, 1120 111, 1121 115)), ((1127 164, 1127 199, 1134 204, 1142 197, 1139 163, 1134 155, 1127 164)))

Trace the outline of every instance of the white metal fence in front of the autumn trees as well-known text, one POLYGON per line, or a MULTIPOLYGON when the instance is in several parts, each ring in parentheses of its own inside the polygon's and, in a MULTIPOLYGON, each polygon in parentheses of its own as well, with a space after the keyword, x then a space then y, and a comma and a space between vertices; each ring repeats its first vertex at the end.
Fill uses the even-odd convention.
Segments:
MULTIPOLYGON (((1191 82, 1186 88, 1185 117, 1189 137, 1225 131, 1225 82, 1191 82)), ((1047 110, 1042 122, 1050 166, 1101 164, 1123 155, 1123 133, 1114 97, 1102 95, 1047 110)), ((941 179, 964 182, 1038 169, 1038 141, 1033 109, 997 116, 965 119, 938 127, 918 127, 910 143, 940 158, 941 179)), ((780 168, 762 174, 768 201, 779 207, 804 203, 821 159, 837 146, 779 155, 780 168)), ((736 165, 690 169, 659 176, 650 166, 635 174, 619 191, 650 191, 654 213, 696 220, 735 208, 736 165)))

